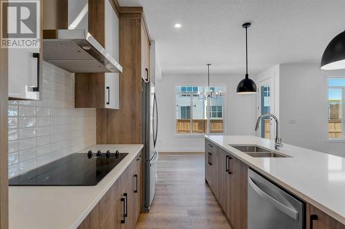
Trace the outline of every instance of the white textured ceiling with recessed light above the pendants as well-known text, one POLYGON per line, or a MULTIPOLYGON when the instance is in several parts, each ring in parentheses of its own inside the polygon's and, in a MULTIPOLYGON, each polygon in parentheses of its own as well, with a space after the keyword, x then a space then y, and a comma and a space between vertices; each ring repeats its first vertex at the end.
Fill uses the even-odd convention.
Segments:
POLYGON ((345 29, 345 0, 119 0, 143 6, 163 74, 243 73, 248 28, 249 74, 279 63, 319 63, 345 29), (174 28, 181 23, 180 29, 174 28))

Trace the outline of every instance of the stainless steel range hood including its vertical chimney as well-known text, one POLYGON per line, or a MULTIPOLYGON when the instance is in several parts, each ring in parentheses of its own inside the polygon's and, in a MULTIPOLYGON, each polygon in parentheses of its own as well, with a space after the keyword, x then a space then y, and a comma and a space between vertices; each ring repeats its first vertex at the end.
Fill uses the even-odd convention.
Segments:
POLYGON ((88 0, 68 0, 66 10, 68 30, 43 30, 43 60, 68 72, 122 72, 121 65, 88 32, 88 0))

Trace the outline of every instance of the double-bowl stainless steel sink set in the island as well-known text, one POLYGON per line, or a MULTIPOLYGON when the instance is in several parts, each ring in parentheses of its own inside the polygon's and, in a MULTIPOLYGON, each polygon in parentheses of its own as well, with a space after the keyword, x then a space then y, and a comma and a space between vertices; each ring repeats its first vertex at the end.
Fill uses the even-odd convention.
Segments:
POLYGON ((250 155, 251 157, 290 157, 289 155, 285 155, 283 153, 278 153, 276 151, 270 151, 268 149, 264 149, 260 146, 255 145, 235 145, 229 144, 229 146, 242 151, 250 155))

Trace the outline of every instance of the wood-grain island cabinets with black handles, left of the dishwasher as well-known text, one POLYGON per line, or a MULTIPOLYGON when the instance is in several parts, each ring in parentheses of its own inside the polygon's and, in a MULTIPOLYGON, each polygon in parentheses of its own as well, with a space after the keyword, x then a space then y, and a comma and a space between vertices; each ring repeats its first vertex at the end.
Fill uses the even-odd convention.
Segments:
POLYGON ((231 228, 246 229, 248 165, 206 141, 205 179, 231 228))

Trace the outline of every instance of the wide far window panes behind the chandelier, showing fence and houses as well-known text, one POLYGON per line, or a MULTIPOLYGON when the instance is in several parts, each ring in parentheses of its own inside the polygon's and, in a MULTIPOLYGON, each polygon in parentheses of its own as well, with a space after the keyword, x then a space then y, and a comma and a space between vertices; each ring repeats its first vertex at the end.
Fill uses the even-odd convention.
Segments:
MULTIPOLYGON (((210 87, 221 91, 225 87, 210 87)), ((224 133, 224 96, 218 100, 199 100, 198 93, 208 92, 206 86, 177 86, 176 89, 176 133, 205 134, 224 133)))

